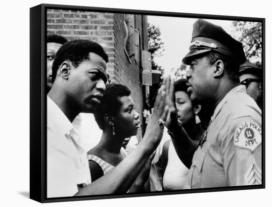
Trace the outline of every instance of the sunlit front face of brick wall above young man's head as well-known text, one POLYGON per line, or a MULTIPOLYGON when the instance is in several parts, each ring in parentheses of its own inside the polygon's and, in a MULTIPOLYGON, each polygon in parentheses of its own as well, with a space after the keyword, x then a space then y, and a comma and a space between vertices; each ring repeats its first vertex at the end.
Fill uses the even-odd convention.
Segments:
POLYGON ((99 43, 109 56, 107 68, 114 68, 112 13, 48 9, 47 34, 62 35, 69 41, 85 39, 99 43))

